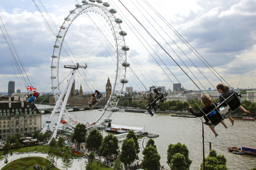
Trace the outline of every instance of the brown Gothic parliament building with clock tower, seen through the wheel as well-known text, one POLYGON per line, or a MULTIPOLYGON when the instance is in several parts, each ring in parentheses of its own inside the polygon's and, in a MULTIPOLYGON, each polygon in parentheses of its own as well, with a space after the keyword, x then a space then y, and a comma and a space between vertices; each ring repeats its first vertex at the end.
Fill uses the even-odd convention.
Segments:
MULTIPOLYGON (((98 89, 95 89, 98 90, 98 89)), ((102 94, 102 97, 100 101, 98 102, 98 105, 103 106, 106 105, 109 99, 109 96, 111 95, 112 85, 110 83, 110 80, 108 78, 108 82, 106 84, 106 94, 102 94)), ((62 98, 62 101, 64 100, 64 97, 62 98)), ((92 94, 84 94, 82 85, 80 85, 80 90, 75 90, 75 80, 72 84, 70 94, 68 96, 68 102, 67 104, 72 106, 89 106, 89 102, 92 99, 92 94)), ((53 97, 53 94, 50 94, 49 96, 49 104, 54 105, 55 100, 53 97)))

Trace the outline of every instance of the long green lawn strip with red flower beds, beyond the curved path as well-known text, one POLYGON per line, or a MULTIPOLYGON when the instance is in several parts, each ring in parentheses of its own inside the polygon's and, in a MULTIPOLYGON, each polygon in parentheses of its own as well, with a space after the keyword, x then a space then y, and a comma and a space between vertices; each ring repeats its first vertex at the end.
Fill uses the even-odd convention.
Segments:
MULTIPOLYGON (((42 152, 45 152, 45 153, 47 153, 47 152, 49 152, 49 151, 51 151, 51 154, 53 154, 53 155, 55 155, 55 156, 58 156, 58 157, 62 157, 62 154, 68 154, 68 151, 73 151, 73 149, 71 149, 71 148, 68 148, 68 149, 65 149, 66 151, 64 151, 64 153, 60 153, 59 151, 57 151, 57 150, 59 150, 59 149, 61 149, 61 148, 58 148, 58 147, 56 147, 54 150, 52 149, 52 147, 47 147, 47 146, 49 146, 48 144, 47 145, 38 145, 38 146, 31 146, 31 147, 26 147, 26 148, 19 148, 19 149, 14 149, 14 150, 12 150, 12 152, 19 152, 20 154, 22 153, 22 152, 24 152, 24 153, 27 153, 28 151, 29 152, 34 152, 34 151, 37 151, 37 153, 42 153, 42 152), (44 147, 44 149, 42 149, 41 147, 44 147), (36 150, 35 150, 35 148, 37 148, 36 150), (55 152, 55 153, 54 153, 55 152)), ((64 147, 63 147, 64 148, 64 147)), ((62 148, 62 149, 63 149, 62 148)), ((11 152, 11 150, 8 152, 8 153, 10 153, 11 152)), ((4 154, 4 151, 3 151, 3 154, 4 154)), ((21 154, 22 155, 22 154, 21 154)), ((73 156, 73 157, 84 157, 84 154, 83 153, 81 153, 81 154, 76 154, 75 152, 72 154, 71 152, 69 152, 69 155, 70 156, 73 156)))

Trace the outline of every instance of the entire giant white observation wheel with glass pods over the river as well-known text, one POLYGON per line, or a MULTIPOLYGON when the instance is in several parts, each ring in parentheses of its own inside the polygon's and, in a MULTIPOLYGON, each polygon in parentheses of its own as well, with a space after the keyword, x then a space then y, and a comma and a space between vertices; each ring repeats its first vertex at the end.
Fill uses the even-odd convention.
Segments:
MULTIPOLYGON (((118 100, 124 97, 121 93, 124 83, 128 82, 125 73, 126 67, 130 66, 126 61, 129 47, 125 46, 124 41, 127 33, 120 26, 123 21, 114 15, 116 10, 108 9, 110 4, 102 0, 89 1, 83 0, 82 5, 76 4, 76 9, 69 11, 70 14, 60 26, 53 46, 51 79, 56 102, 54 109, 60 111, 59 119, 64 119, 72 127, 82 123, 88 128, 91 125, 101 128, 111 121, 109 117, 117 111, 118 100), (102 111, 88 110, 78 116, 68 112, 65 100, 66 96, 74 95, 69 93, 70 88, 73 88, 72 83, 77 85, 75 89, 101 91, 108 77, 114 82, 112 81, 109 100, 102 111), (67 81, 66 86, 61 83, 67 81), (65 99, 62 101, 65 92, 65 99)), ((83 97, 84 95, 78 95, 76 102, 82 101, 83 97)), ((53 112, 55 113, 54 110, 53 112)), ((51 116, 46 126, 51 121, 51 116)))

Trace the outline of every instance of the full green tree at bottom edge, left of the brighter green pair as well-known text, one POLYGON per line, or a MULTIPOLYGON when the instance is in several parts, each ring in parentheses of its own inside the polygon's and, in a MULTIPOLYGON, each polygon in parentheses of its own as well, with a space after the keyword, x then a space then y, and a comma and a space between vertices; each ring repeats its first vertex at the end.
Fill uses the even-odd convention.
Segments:
POLYGON ((143 160, 141 162, 141 168, 144 170, 156 170, 159 169, 160 165, 160 155, 158 154, 154 146, 146 147, 142 154, 143 160))

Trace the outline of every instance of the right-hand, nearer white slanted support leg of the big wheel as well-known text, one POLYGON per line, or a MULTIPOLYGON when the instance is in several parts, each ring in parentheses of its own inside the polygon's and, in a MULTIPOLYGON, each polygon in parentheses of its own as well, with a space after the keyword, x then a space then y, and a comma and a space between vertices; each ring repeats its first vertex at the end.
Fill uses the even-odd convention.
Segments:
POLYGON ((72 73, 72 78, 71 78, 71 81, 70 81, 70 83, 69 83, 69 85, 68 85, 68 90, 67 90, 67 92, 66 92, 65 99, 64 99, 64 101, 63 101, 63 103, 62 103, 62 107, 61 107, 61 110, 60 110, 60 115, 59 115, 59 118, 58 118, 58 121, 57 121, 57 125, 56 125, 56 127, 55 127, 55 129, 54 129, 53 135, 52 135, 51 139, 49 140, 48 144, 50 143, 50 141, 52 140, 53 137, 54 137, 54 138, 56 137, 57 128, 59 127, 60 119, 61 119, 61 117, 62 117, 62 115, 63 115, 63 112, 64 112, 64 110, 66 109, 66 104, 67 104, 67 101, 68 101, 68 96, 69 96, 69 93, 70 93, 70 91, 71 91, 72 83, 73 83, 73 81, 74 81, 74 79, 75 79, 75 74, 76 74, 76 70, 74 70, 74 72, 72 73))

